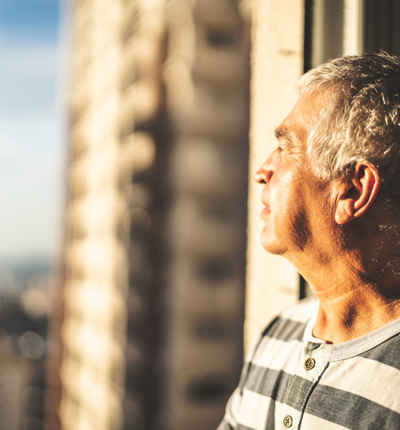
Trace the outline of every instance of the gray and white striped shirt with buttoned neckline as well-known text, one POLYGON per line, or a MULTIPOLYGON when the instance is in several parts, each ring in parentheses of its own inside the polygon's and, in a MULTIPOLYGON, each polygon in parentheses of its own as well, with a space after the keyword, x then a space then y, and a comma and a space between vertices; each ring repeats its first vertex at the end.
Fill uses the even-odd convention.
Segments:
POLYGON ((217 430, 400 429, 400 320, 327 344, 312 336, 315 299, 265 329, 217 430))

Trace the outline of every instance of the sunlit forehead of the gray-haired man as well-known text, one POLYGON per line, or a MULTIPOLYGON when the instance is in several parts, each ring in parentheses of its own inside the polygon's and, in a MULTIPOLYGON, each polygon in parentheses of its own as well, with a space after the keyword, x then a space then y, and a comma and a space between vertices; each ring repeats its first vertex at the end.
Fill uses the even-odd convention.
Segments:
POLYGON ((308 135, 318 118, 325 97, 319 93, 303 93, 298 98, 289 115, 275 130, 277 139, 297 141, 306 145, 308 135))

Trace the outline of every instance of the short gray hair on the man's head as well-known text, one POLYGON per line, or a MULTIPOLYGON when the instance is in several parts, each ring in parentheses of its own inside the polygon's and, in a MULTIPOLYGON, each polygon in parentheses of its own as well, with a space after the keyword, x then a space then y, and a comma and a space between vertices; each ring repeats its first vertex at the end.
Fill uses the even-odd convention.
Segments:
POLYGON ((298 85, 302 93, 327 94, 309 137, 316 174, 331 180, 359 161, 371 163, 382 181, 382 210, 400 226, 400 58, 384 52, 337 58, 298 85))

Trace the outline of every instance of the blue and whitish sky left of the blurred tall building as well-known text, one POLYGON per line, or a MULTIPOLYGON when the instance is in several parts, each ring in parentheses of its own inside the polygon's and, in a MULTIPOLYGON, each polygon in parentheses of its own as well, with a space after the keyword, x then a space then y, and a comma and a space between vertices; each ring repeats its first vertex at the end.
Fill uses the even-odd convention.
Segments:
POLYGON ((60 247, 59 0, 0 0, 0 258, 60 247))

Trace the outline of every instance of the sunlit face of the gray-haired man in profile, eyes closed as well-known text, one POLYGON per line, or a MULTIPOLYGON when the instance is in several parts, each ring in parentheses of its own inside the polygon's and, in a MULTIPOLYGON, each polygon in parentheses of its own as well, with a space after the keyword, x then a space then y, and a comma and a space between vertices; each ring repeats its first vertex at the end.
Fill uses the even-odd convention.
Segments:
POLYGON ((321 208, 328 195, 312 172, 307 157, 311 124, 320 111, 321 96, 303 94, 276 129, 278 147, 255 174, 262 183, 261 242, 272 254, 303 251, 321 228, 321 208))

